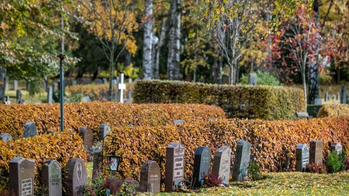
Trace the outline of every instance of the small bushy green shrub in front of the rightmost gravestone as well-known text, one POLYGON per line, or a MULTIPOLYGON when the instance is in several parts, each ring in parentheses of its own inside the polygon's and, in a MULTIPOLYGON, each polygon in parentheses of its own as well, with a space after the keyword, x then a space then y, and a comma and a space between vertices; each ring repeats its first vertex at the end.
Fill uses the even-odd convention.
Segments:
POLYGON ((344 164, 346 160, 346 154, 343 150, 341 154, 337 154, 337 151, 334 150, 329 155, 326 161, 326 168, 329 173, 336 173, 346 169, 346 165, 344 164))

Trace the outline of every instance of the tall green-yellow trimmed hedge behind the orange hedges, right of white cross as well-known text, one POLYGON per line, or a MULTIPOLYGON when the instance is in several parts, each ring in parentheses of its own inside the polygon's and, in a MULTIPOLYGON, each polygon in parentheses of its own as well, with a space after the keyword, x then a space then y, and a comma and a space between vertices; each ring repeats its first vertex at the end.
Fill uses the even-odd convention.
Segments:
POLYGON ((304 111, 302 90, 291 87, 231 86, 179 81, 138 81, 135 103, 205 103, 223 108, 228 117, 296 119, 304 111))

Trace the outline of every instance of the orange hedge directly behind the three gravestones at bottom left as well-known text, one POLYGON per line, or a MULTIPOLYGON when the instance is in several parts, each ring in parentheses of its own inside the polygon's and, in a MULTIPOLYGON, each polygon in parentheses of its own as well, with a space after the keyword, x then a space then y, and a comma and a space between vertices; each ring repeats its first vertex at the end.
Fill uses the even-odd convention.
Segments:
POLYGON ((39 185, 44 161, 55 159, 63 169, 71 158, 86 161, 86 151, 80 136, 69 131, 36 135, 7 143, 0 142, 0 191, 7 186, 9 161, 14 157, 35 160, 35 184, 39 185))

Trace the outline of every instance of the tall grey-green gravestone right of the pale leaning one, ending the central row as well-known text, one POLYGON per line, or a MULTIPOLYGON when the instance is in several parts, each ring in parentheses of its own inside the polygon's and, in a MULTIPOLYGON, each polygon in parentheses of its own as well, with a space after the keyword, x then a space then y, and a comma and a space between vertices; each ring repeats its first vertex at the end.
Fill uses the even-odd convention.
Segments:
POLYGON ((233 167, 233 181, 241 182, 248 179, 248 165, 250 163, 251 144, 239 140, 236 144, 235 160, 233 167))

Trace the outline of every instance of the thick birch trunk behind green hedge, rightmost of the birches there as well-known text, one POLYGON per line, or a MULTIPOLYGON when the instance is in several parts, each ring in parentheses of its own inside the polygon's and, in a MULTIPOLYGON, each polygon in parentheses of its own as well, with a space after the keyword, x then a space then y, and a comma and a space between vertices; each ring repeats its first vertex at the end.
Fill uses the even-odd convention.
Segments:
POLYGON ((169 80, 179 80, 180 68, 180 0, 171 0, 170 43, 167 63, 169 80))

